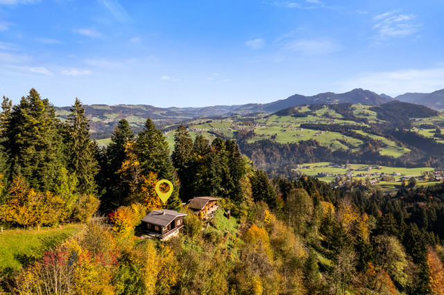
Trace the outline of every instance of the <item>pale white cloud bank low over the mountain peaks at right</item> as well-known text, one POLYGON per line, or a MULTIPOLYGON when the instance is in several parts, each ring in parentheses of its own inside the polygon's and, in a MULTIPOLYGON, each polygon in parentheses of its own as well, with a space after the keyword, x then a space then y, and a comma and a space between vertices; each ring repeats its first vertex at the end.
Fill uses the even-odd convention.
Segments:
POLYGON ((432 92, 444 88, 444 67, 361 73, 336 85, 341 91, 364 88, 390 96, 406 92, 432 92))

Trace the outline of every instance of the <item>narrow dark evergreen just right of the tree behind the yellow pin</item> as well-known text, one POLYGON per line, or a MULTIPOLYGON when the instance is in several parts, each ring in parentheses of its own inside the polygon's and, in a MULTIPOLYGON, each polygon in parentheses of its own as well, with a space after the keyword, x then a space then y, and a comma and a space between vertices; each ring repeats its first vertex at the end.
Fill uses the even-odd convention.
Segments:
POLYGON ((180 180, 180 198, 183 200, 194 197, 191 190, 191 159, 193 152, 193 141, 187 132, 187 127, 180 124, 174 134, 174 151, 171 155, 174 168, 178 172, 180 180))

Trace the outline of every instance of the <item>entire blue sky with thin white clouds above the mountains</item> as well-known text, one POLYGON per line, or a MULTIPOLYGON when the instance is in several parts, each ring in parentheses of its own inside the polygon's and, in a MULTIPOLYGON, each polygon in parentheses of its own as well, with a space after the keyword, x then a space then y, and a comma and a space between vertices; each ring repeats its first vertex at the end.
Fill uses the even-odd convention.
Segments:
POLYGON ((444 1, 0 0, 0 95, 201 107, 444 88, 444 1))

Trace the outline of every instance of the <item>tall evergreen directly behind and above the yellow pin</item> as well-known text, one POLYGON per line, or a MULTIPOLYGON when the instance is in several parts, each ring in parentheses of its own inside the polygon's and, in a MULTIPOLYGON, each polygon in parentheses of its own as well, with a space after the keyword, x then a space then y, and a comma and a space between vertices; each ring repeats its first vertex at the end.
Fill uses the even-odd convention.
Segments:
POLYGON ((167 202, 167 208, 179 210, 182 202, 179 198, 179 183, 174 173, 173 163, 169 157, 168 143, 162 132, 151 120, 146 120, 144 129, 137 137, 137 156, 140 161, 142 175, 149 172, 157 173, 158 179, 168 179, 174 186, 173 193, 167 202))

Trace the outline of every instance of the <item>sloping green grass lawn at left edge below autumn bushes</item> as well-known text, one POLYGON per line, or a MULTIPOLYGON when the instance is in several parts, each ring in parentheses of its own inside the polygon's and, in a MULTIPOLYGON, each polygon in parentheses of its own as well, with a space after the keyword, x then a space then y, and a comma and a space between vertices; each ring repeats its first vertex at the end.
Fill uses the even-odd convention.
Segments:
POLYGON ((83 228, 83 224, 62 226, 61 229, 11 229, 0 233, 0 267, 18 269, 26 262, 42 258, 44 251, 83 228))

